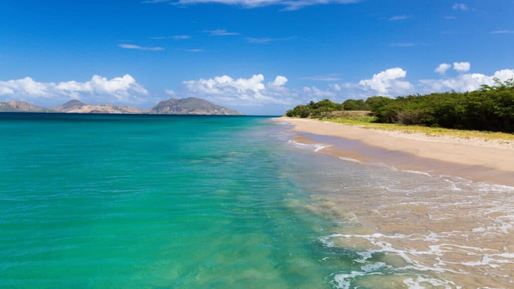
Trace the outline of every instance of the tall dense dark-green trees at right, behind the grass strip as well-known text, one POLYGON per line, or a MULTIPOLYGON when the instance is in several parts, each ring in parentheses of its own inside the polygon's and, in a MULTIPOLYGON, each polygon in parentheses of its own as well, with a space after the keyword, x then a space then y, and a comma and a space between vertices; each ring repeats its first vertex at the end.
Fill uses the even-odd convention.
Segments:
POLYGON ((470 92, 366 100, 378 122, 514 132, 514 80, 470 92))

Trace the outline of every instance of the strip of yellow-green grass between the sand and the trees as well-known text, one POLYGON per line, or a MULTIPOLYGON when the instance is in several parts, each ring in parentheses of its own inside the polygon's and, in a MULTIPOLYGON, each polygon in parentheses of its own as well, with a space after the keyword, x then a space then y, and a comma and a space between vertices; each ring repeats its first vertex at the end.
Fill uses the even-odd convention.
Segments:
POLYGON ((374 123, 375 117, 368 115, 348 115, 345 117, 321 117, 318 118, 322 121, 329 121, 335 123, 342 123, 347 125, 355 125, 362 128, 381 129, 390 131, 401 131, 405 133, 423 133, 427 136, 448 136, 464 139, 482 139, 482 140, 495 140, 505 143, 514 142, 514 134, 505 132, 491 132, 491 131, 478 131, 478 130, 461 130, 450 129, 441 127, 428 127, 418 125, 402 125, 402 124, 389 124, 389 123, 374 123))

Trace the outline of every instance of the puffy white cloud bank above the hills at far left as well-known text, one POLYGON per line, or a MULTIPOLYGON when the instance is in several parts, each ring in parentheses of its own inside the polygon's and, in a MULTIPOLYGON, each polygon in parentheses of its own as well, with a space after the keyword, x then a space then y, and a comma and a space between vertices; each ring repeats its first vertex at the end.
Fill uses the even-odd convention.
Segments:
POLYGON ((0 81, 0 96, 3 98, 58 102, 69 99, 92 99, 107 102, 138 103, 141 95, 148 91, 129 74, 113 79, 100 75, 86 82, 36 82, 32 78, 0 81))

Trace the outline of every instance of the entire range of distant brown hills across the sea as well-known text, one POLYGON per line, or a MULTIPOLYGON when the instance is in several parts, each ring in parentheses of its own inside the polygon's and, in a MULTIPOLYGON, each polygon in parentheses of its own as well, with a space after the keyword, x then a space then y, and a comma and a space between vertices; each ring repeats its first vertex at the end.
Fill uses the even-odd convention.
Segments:
POLYGON ((0 102, 0 112, 58 112, 58 113, 131 113, 131 114, 195 114, 195 115, 243 115, 243 113, 215 105, 204 99, 185 98, 164 100, 150 109, 113 104, 91 105, 79 100, 50 108, 24 101, 0 102))

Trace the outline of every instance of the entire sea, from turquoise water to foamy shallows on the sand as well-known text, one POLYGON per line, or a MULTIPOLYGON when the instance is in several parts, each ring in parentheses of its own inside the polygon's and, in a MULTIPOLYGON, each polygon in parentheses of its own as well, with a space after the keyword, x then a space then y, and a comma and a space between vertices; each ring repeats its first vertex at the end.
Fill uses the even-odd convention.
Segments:
POLYGON ((514 189, 270 117, 0 113, 0 288, 513 288, 514 189))

